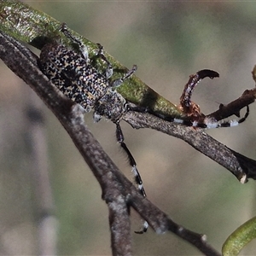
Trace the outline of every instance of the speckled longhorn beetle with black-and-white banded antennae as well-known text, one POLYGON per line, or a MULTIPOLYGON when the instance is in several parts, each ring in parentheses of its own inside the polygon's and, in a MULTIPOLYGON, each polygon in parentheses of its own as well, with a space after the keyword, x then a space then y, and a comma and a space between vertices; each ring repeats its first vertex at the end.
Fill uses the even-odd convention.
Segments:
MULTIPOLYGON (((90 112, 94 109, 93 119, 95 122, 102 119, 102 116, 113 121, 116 125, 117 141, 128 155, 131 170, 134 174, 138 189, 143 196, 146 196, 145 190, 143 189, 142 178, 137 170, 136 161, 124 142, 124 135, 119 125, 119 120, 121 119, 122 114, 129 109, 136 111, 148 111, 150 113, 151 111, 147 108, 141 108, 140 106, 137 108, 132 107, 116 90, 119 85, 125 81, 125 79, 131 78, 132 74, 137 70, 137 66, 134 65, 131 70, 128 70, 128 72, 120 79, 111 81, 110 78, 113 74, 113 67, 106 56, 103 55, 102 46, 100 44, 98 44, 97 56, 107 64, 105 73, 100 73, 91 65, 86 46, 67 31, 66 24, 62 24, 61 32, 63 32, 65 36, 73 42, 73 44, 78 44, 79 51, 67 48, 67 46, 58 42, 45 44, 41 49, 39 60, 39 66, 42 72, 59 90, 62 91, 65 96, 74 102, 79 103, 84 108, 85 112, 90 112)), ((186 102, 189 103, 187 103, 187 105, 190 104, 191 92, 195 85, 198 84, 201 79, 205 77, 213 78, 218 76, 217 74, 218 73, 211 70, 203 70, 196 73, 197 76, 195 76, 195 79, 192 79, 191 83, 188 84, 187 91, 189 96, 186 96, 186 102)), ((238 121, 224 123, 218 123, 214 119, 203 119, 199 122, 192 118, 178 119, 177 117, 163 116, 159 113, 154 114, 160 118, 174 121, 179 124, 203 128, 217 128, 238 125, 238 123, 241 123, 247 118, 248 108, 244 118, 238 121)), ((145 221, 143 224, 143 230, 138 231, 137 233, 146 232, 147 229, 148 223, 145 221)))

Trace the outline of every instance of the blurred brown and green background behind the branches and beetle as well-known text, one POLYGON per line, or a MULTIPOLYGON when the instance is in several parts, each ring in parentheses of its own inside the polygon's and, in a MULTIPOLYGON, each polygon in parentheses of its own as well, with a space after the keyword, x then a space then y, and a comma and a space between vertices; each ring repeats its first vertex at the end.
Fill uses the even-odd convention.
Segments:
MULTIPOLYGON (((24 1, 26 2, 26 1, 24 1)), ((256 64, 255 3, 44 2, 28 4, 101 43, 125 67, 137 64, 136 75, 154 90, 178 103, 189 74, 203 68, 220 73, 205 79, 193 100, 204 113, 228 103, 254 86, 256 64)), ((33 49, 38 53, 38 50, 33 49)), ((29 172, 32 150, 26 108, 41 100, 1 61, 0 68, 0 253, 37 253, 37 202, 29 172)), ((45 143, 49 179, 58 218, 57 254, 109 255, 108 208, 96 178, 48 108, 45 143)), ((236 128, 207 131, 228 147, 256 159, 255 113, 236 128)), ((131 167, 115 141, 115 126, 102 119, 86 124, 109 156, 132 178, 131 167)), ((255 183, 242 185, 222 166, 188 144, 157 131, 136 131, 122 122, 125 143, 143 177, 148 199, 175 222, 207 234, 220 251, 236 227, 256 213, 255 183)), ((131 212, 132 229, 141 224, 131 212)), ((200 255, 170 234, 133 235, 135 255, 200 255)), ((255 253, 255 241, 242 255, 255 253)))

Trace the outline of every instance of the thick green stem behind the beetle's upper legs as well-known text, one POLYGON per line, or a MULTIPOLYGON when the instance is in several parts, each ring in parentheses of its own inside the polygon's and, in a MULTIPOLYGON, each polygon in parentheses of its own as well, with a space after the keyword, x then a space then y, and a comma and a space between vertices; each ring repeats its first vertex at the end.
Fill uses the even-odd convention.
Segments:
MULTIPOLYGON (((21 42, 31 44, 38 49, 41 49, 46 44, 46 39, 60 38, 64 44, 67 44, 67 38, 61 34, 60 26, 60 21, 41 11, 32 9, 24 3, 14 0, 2 0, 0 2, 0 29, 21 42)), ((97 49, 96 44, 76 32, 71 32, 84 42, 90 55, 92 55, 93 51, 97 49)), ((111 55, 106 53, 106 56, 114 69, 126 69, 119 61, 114 60, 111 55)), ((115 72, 113 79, 119 75, 119 73, 115 72)), ((185 114, 176 105, 160 96, 136 76, 125 81, 117 90, 127 101, 138 106, 147 107, 153 112, 181 119, 185 117, 185 114)))

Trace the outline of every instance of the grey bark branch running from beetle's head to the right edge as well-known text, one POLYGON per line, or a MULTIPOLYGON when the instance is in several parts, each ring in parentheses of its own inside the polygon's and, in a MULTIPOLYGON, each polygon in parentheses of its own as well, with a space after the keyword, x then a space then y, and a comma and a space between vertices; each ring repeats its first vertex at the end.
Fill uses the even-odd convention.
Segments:
POLYGON ((127 112, 123 119, 134 128, 151 128, 178 137, 233 173, 241 183, 256 179, 256 161, 219 143, 201 128, 178 125, 148 113, 127 112))

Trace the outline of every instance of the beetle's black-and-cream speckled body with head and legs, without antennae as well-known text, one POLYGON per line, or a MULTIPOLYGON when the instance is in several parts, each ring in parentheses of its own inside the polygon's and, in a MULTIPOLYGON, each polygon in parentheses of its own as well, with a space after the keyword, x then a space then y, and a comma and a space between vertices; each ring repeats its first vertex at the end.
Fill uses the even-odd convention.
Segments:
MULTIPOLYGON (((64 28, 66 29, 66 28, 64 28)), ((66 34, 68 33, 65 30, 66 34)), ((40 67, 42 72, 68 98, 79 103, 90 112, 94 108, 94 119, 99 121, 102 116, 116 122, 126 111, 126 101, 115 88, 129 79, 137 69, 134 66, 124 77, 110 81, 112 67, 105 56, 102 47, 98 55, 107 61, 106 74, 100 73, 90 64, 87 49, 71 34, 67 34, 79 44, 79 52, 58 43, 46 44, 41 50, 40 67)))

